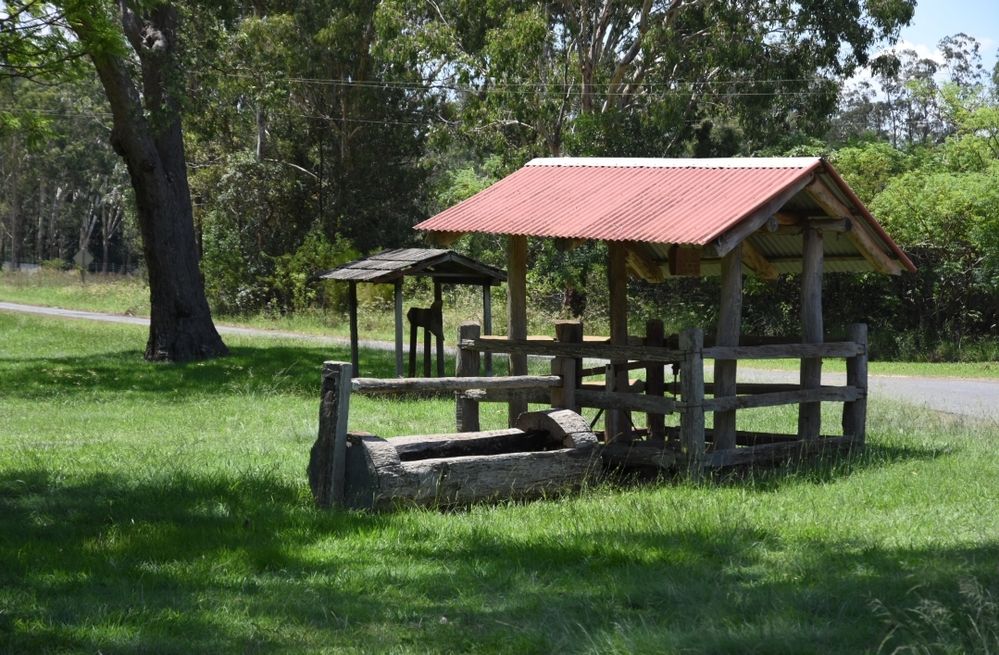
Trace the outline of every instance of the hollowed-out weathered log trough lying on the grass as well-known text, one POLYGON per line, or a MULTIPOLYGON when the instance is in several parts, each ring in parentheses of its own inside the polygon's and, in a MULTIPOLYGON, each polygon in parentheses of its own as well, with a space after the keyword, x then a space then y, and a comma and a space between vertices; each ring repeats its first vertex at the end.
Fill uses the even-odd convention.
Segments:
MULTIPOLYGON (((463 452, 473 454, 404 459, 393 445, 395 440, 351 436, 345 502, 349 507, 369 509, 463 505, 565 491, 598 473, 596 435, 578 414, 568 410, 529 412, 518 417, 518 431, 524 448, 537 447, 537 435, 546 434, 540 443, 546 450, 481 454, 471 445, 478 441, 485 450, 495 449, 490 437, 463 434, 448 435, 450 445, 437 441, 434 447, 458 448, 454 442, 464 441, 463 452), (551 450, 553 443, 561 447, 551 450)), ((493 435, 492 439, 505 442, 504 449, 515 448, 509 443, 517 439, 512 432, 493 435)), ((420 448, 418 440, 408 437, 400 443, 409 453, 407 457, 420 448)))

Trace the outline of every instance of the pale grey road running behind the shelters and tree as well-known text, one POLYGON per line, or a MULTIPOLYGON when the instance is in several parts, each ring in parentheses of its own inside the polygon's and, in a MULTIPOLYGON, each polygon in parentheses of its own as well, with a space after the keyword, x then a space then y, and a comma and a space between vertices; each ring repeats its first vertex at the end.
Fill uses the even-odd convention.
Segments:
MULTIPOLYGON (((149 325, 149 319, 135 316, 99 314, 10 302, 0 302, 0 311, 107 323, 149 325)), ((263 330, 231 325, 217 325, 217 327, 221 334, 304 339, 331 345, 348 345, 348 340, 341 337, 324 337, 300 332, 263 330)), ((392 350, 394 348, 391 343, 370 340, 361 340, 360 346, 374 350, 392 350)), ((796 382, 797 378, 796 371, 775 371, 750 367, 740 367, 739 370, 739 379, 747 382, 796 382)), ((822 380, 824 384, 841 385, 846 383, 846 376, 841 373, 823 373, 822 380)), ((999 380, 871 375, 869 385, 872 398, 891 398, 958 416, 999 421, 999 380)))

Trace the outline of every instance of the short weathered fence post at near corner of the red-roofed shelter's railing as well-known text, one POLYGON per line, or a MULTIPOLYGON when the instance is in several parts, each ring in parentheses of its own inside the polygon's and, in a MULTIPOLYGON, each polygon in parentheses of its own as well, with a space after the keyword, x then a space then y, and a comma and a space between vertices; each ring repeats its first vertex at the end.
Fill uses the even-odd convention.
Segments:
POLYGON ((704 333, 697 328, 680 333, 680 448, 687 471, 697 479, 704 471, 704 333))

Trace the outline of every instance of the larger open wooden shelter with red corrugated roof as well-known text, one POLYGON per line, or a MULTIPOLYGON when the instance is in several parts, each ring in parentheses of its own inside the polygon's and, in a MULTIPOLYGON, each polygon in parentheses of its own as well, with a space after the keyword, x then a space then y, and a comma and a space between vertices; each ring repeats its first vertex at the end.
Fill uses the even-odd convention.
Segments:
MULTIPOLYGON (((683 390, 674 389, 674 393, 685 399, 682 407, 687 418, 686 424, 681 421, 680 432, 688 462, 704 461, 705 409, 715 412, 710 435, 712 451, 730 451, 739 442, 737 409, 767 404, 800 402, 796 437, 817 439, 820 402, 824 400, 847 403, 844 432, 851 434, 844 438, 862 441, 866 326, 858 326, 849 341, 822 345, 822 278, 825 272, 899 274, 915 270, 856 194, 820 158, 537 159, 416 228, 429 232, 442 244, 469 232, 508 237, 507 346, 504 350, 495 339, 479 338, 477 334, 459 346, 477 352, 509 352, 514 376, 526 375, 528 353, 555 355, 558 366, 571 366, 567 357, 604 353, 611 359, 606 393, 598 399, 595 392, 585 389, 577 359, 574 386, 579 391, 573 393, 573 385, 566 384, 561 402, 562 406, 572 406, 565 400, 566 394, 578 401, 589 393, 592 402, 600 403, 590 406, 608 409, 605 441, 629 440, 628 411, 650 406, 626 397, 631 389, 629 370, 646 368, 651 376, 647 383, 661 397, 665 389, 663 365, 669 361, 677 366, 683 364, 687 379, 680 382, 683 390), (608 347, 556 343, 543 351, 537 343, 532 346, 527 337, 529 237, 558 239, 570 245, 581 240, 607 243, 611 317, 608 347), (765 279, 801 273, 800 343, 773 345, 769 350, 768 346, 761 346, 762 350, 740 348, 765 342, 741 334, 746 273, 765 279), (720 314, 714 338, 705 344, 703 336, 695 331, 674 337, 674 350, 632 347, 636 338, 629 340, 627 333, 628 277, 657 282, 671 276, 703 275, 721 276, 720 314), (705 384, 697 366, 687 360, 700 362, 708 356, 708 345, 715 359, 715 379, 705 384), (737 360, 768 356, 800 358, 800 386, 793 390, 769 389, 761 394, 766 398, 740 395, 750 385, 737 385, 737 360), (821 386, 823 356, 848 358, 853 382, 846 390, 830 391, 821 386), (714 400, 704 400, 705 389, 713 393, 714 400), (690 411, 694 405, 700 408, 699 419, 690 411)), ((569 338, 582 341, 581 334, 569 338)), ((669 342, 661 324, 658 333, 655 326, 650 326, 644 340, 645 345, 660 347, 669 342)), ((651 404, 667 406, 658 401, 651 404)), ((523 396, 511 396, 511 422, 526 407, 523 396)), ((681 405, 674 402, 669 407, 677 409, 681 405)), ((653 418, 650 414, 650 433, 661 431, 653 425, 653 418)), ((731 460, 728 457, 718 461, 731 460)))

